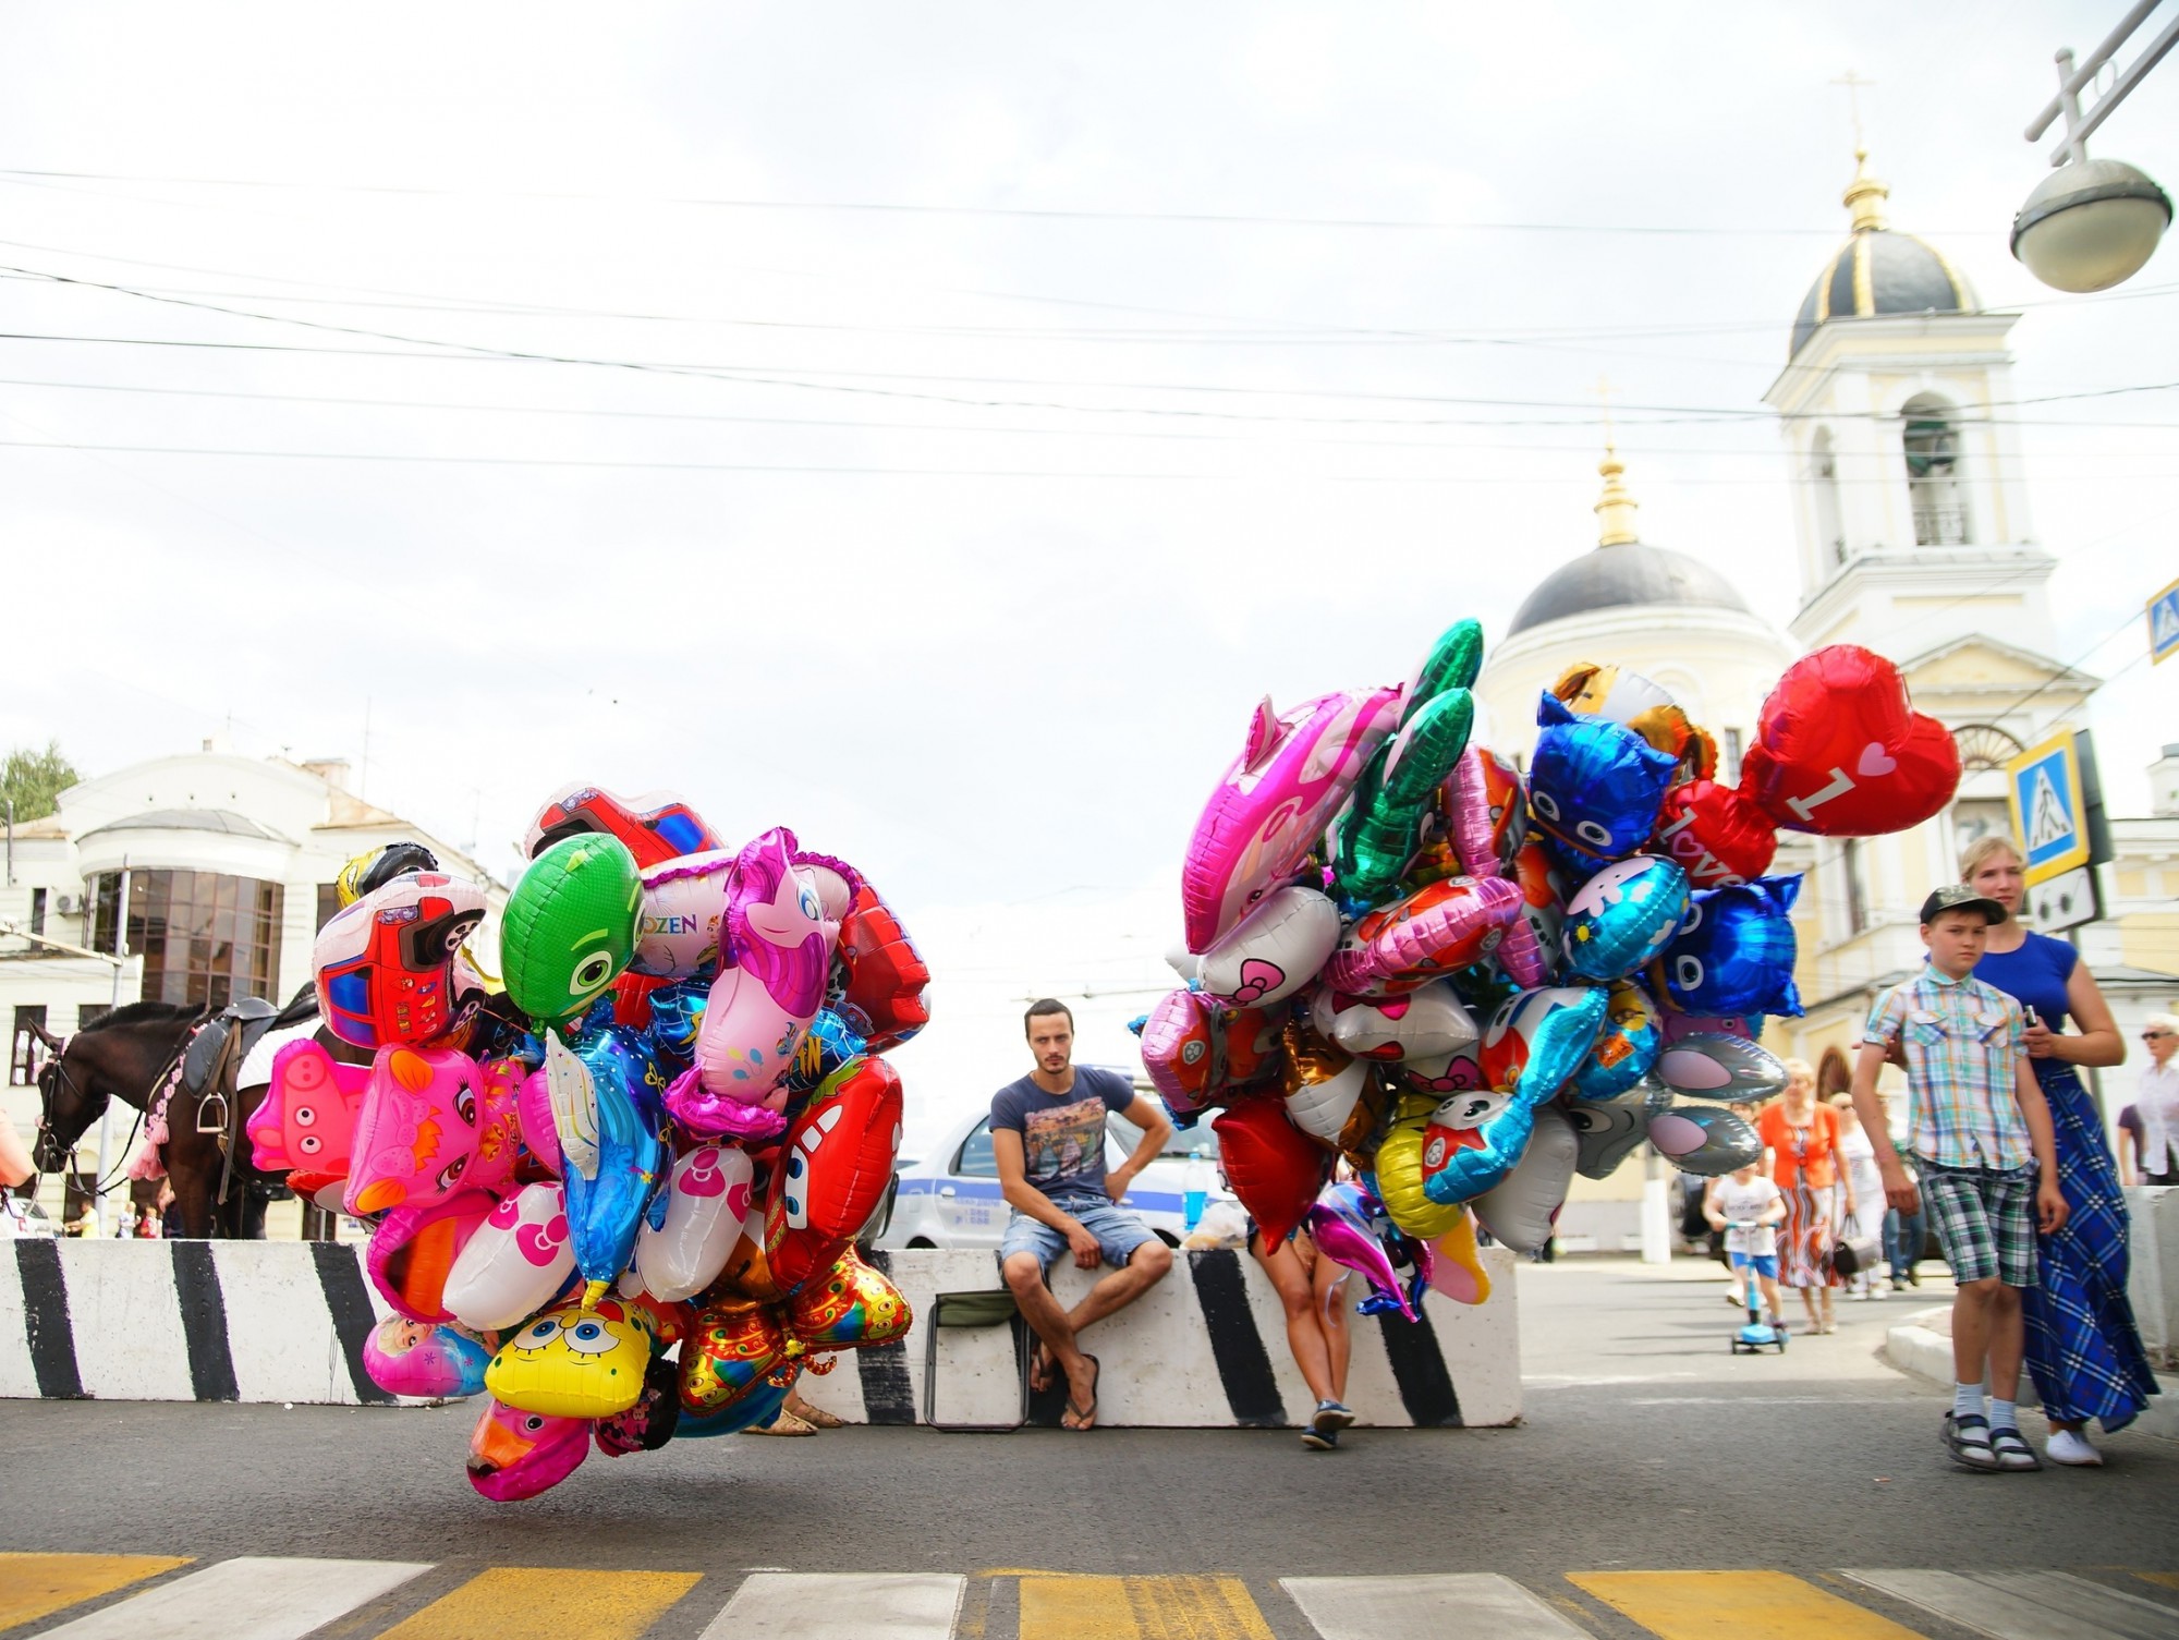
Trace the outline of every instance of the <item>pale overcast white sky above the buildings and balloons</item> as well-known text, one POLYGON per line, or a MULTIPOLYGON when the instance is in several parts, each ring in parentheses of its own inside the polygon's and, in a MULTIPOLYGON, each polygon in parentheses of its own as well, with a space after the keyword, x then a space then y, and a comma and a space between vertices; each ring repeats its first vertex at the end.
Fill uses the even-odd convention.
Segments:
MULTIPOLYGON (((1835 76, 2022 397, 2179 384, 2172 251, 2103 299, 2005 251, 2120 11, 9 4, 0 744, 362 765, 368 718, 368 796, 495 868, 569 779, 793 824, 941 973, 920 1143, 1022 997, 1129 1058, 1259 694, 1593 545, 1599 377, 1645 539, 1787 619, 1835 76)), ((2096 150, 2179 183, 2175 92, 2096 150)), ((2022 417, 2138 811, 2179 403, 2022 417)))

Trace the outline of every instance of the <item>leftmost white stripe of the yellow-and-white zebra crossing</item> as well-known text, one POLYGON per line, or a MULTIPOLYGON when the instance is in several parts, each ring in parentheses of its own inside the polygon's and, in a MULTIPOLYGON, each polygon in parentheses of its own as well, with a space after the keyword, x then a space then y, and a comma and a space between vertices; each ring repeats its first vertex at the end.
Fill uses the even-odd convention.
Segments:
POLYGON ((46 1640, 301 1640, 429 1561, 244 1555, 48 1629, 46 1640))

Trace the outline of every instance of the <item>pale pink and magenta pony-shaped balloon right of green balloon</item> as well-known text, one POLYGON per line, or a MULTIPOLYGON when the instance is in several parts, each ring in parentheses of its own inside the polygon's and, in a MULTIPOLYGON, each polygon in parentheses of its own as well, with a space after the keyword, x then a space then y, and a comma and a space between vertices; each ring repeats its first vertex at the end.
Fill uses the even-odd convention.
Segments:
POLYGON ((741 851, 695 1064, 667 1088, 684 1128, 734 1138, 787 1128, 778 1082, 824 1003, 837 940, 817 885, 795 870, 795 833, 774 829, 741 851))

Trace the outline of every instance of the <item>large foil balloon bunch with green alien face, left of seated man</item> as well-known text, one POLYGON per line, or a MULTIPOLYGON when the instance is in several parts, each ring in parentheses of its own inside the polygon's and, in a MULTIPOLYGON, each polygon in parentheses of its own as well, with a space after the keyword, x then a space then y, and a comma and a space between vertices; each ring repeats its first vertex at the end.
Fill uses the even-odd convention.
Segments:
POLYGON ((577 785, 538 811, 495 992, 484 894, 416 844, 353 861, 318 936, 342 1064, 290 1042, 255 1160, 370 1226, 390 1394, 486 1396, 468 1479, 532 1498, 591 1450, 767 1422, 909 1328, 854 1252, 900 1147, 882 1058, 928 968, 878 892, 774 829, 577 785))

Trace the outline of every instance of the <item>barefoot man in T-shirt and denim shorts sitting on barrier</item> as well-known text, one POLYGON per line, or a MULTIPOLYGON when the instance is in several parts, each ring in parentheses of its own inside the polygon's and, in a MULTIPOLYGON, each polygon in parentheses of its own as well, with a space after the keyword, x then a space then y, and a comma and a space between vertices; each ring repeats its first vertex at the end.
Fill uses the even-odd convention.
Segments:
POLYGON ((1074 1064, 1074 1014, 1046 997, 1022 1018, 1037 1066, 991 1095, 991 1154, 1013 1208, 998 1247, 1000 1269, 1022 1317, 1042 1339, 1031 1385, 1068 1378, 1063 1428, 1096 1428, 1098 1359, 1076 1337, 1092 1322, 1133 1304, 1172 1269, 1172 1252, 1140 1217, 1118 1206, 1133 1178, 1172 1136, 1172 1123, 1118 1071, 1074 1064), (1120 1167, 1105 1169, 1105 1114, 1118 1110, 1142 1130, 1120 1167), (1111 1274, 1072 1309, 1044 1285, 1050 1263, 1072 1252, 1083 1269, 1111 1274))

